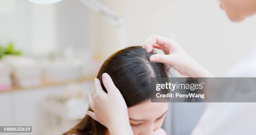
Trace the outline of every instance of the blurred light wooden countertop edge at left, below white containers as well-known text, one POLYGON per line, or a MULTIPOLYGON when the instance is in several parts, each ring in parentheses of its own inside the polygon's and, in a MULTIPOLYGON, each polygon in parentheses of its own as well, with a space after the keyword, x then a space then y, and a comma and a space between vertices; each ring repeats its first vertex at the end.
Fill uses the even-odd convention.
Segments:
POLYGON ((81 77, 79 79, 76 80, 72 80, 72 81, 66 81, 66 82, 42 82, 41 85, 39 86, 33 86, 33 87, 13 87, 12 89, 7 89, 7 90, 0 90, 0 94, 1 93, 5 93, 5 92, 16 92, 16 91, 20 91, 20 90, 28 90, 28 89, 38 89, 38 88, 44 88, 44 87, 53 87, 53 86, 59 86, 59 85, 66 85, 69 83, 79 83, 79 82, 90 82, 93 81, 95 79, 95 75, 88 75, 88 76, 84 76, 81 77))

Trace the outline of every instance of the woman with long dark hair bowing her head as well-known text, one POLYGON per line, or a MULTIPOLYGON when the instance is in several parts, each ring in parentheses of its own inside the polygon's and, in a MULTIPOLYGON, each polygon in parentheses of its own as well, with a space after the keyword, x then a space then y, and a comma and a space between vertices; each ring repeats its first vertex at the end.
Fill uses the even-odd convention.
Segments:
MULTIPOLYGON (((105 83, 102 77, 111 76, 116 90, 122 94, 128 107, 133 135, 166 135, 160 127, 168 104, 165 102, 151 103, 151 77, 168 77, 168 69, 165 64, 149 61, 152 54, 154 51, 146 53, 142 46, 124 48, 112 54, 102 64, 97 75, 100 81, 96 81, 99 81, 105 92, 107 92, 105 87, 108 86, 103 85, 105 83)), ((89 108, 89 111, 92 109, 89 108)), ((113 116, 113 119, 115 118, 116 116, 113 116)), ((86 115, 75 127, 63 135, 110 135, 110 131, 100 122, 86 115)))

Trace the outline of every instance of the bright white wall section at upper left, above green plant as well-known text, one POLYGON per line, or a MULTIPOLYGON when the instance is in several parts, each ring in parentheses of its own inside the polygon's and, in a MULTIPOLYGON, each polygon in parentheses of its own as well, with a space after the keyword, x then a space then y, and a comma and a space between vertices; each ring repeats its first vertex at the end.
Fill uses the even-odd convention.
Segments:
POLYGON ((54 5, 28 0, 0 0, 0 43, 10 41, 25 54, 55 49, 54 5))

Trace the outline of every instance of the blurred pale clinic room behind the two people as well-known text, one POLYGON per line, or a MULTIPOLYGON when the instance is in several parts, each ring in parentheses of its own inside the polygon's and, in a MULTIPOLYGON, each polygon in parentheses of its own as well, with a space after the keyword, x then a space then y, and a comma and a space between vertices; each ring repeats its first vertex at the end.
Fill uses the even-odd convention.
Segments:
MULTIPOLYGON (((231 23, 217 0, 88 1, 92 6, 0 0, 0 126, 33 126, 33 135, 69 130, 85 115, 85 94, 102 62, 152 34, 177 40, 218 77, 242 59, 256 35, 256 17, 231 23)), ((188 135, 204 109, 205 103, 172 103, 163 128, 188 135)))

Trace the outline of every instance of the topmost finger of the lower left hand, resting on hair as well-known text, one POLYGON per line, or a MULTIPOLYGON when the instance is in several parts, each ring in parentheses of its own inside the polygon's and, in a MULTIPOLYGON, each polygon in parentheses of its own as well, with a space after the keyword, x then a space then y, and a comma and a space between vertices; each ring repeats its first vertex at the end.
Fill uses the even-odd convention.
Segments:
POLYGON ((117 89, 115 87, 113 80, 107 73, 102 74, 102 81, 103 81, 103 84, 104 84, 105 88, 107 89, 108 93, 111 93, 111 91, 117 89))

